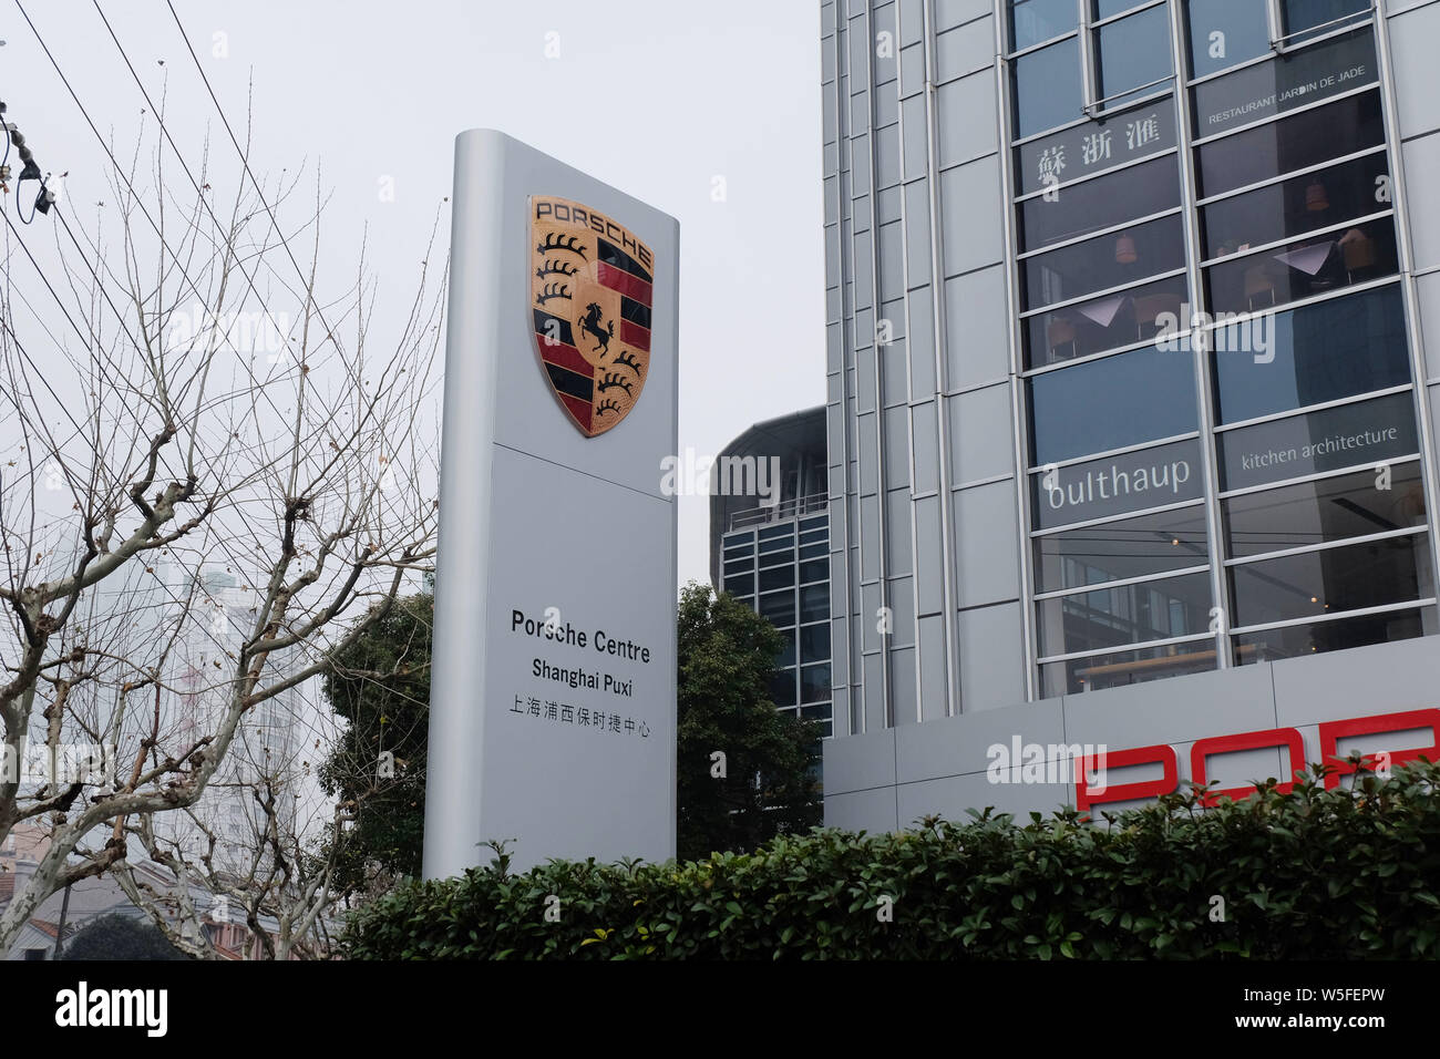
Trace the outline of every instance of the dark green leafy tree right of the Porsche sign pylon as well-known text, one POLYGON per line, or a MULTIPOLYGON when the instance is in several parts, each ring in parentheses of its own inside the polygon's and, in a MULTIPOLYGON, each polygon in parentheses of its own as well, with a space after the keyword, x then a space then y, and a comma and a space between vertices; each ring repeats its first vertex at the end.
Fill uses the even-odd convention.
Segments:
POLYGON ((729 594, 716 595, 694 581, 681 591, 677 847, 683 860, 753 850, 821 821, 819 725, 778 713, 770 702, 783 643, 769 621, 729 594))

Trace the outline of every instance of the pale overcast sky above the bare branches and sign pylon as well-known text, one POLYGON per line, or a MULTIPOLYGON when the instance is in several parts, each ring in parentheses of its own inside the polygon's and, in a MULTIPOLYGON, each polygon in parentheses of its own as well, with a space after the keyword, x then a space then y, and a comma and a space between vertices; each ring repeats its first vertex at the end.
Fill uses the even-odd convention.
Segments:
MULTIPOLYGON (((145 104, 91 0, 20 3, 91 120, 121 147, 132 141, 145 104)), ((209 124, 215 158, 233 169, 166 0, 101 9, 151 95, 167 91, 181 148, 199 157, 209 124)), ((824 402, 816 0, 176 0, 176 10, 232 124, 243 122, 253 76, 256 173, 312 176, 320 164, 333 190, 323 265, 343 281, 369 225, 382 281, 374 331, 403 321, 451 192, 455 134, 494 127, 680 219, 681 452, 714 454, 757 419, 824 402), (215 55, 217 33, 228 56, 215 55), (624 112, 596 114, 621 88, 624 112), (386 177, 393 202, 382 200, 386 177)), ((112 197, 104 154, 16 0, 0 0, 0 37, 6 118, 42 169, 69 171, 66 200, 94 218, 112 197)), ((707 523, 706 499, 681 500, 681 584, 707 576, 707 523)))

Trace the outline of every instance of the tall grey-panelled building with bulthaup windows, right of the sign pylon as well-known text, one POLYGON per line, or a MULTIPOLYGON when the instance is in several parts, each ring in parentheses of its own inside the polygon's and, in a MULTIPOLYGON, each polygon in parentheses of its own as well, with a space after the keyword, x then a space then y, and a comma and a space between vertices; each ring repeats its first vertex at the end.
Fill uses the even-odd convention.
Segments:
POLYGON ((828 818, 1073 801, 976 779, 1025 718, 1316 761, 1427 706, 1440 3, 821 14, 828 818))

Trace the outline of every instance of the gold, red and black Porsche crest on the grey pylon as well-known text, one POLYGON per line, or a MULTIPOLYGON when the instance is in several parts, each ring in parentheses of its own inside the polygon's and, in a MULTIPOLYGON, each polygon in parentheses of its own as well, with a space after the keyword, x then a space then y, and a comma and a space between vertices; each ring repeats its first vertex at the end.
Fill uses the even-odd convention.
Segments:
POLYGON ((530 313, 540 366, 580 434, 621 422, 649 375, 649 246, 569 199, 530 199, 530 313))

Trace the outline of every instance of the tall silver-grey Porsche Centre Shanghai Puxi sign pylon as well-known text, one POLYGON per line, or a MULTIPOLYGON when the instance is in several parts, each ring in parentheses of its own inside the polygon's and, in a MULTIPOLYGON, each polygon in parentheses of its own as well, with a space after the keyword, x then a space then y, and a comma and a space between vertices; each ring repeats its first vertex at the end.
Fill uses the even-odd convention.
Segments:
POLYGON ((455 141, 425 876, 675 849, 677 222, 455 141))

